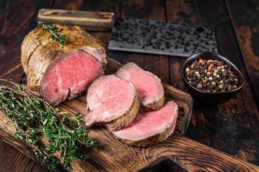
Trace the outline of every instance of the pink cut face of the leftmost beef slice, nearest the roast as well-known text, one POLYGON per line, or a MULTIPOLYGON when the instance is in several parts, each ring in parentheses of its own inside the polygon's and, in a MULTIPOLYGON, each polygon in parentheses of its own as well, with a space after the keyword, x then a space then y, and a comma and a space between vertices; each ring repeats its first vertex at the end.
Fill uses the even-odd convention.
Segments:
POLYGON ((87 103, 92 112, 85 117, 86 126, 121 117, 129 109, 134 95, 134 87, 115 75, 98 78, 88 89, 87 103))

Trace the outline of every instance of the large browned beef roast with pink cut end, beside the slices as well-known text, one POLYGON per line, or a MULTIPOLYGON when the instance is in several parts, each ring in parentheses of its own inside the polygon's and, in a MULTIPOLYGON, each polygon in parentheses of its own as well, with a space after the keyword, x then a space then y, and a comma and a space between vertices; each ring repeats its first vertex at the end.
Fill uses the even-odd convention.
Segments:
POLYGON ((51 32, 33 29, 21 46, 21 61, 28 89, 58 105, 86 93, 90 84, 104 75, 105 49, 80 27, 54 24, 67 42, 50 39, 51 32))

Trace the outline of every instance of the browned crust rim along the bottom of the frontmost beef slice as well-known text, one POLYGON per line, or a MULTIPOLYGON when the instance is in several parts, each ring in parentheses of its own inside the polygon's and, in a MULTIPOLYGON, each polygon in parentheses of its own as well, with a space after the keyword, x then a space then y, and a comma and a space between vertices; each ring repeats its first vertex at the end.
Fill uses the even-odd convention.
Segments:
POLYGON ((150 136, 146 139, 142 139, 142 140, 139 140, 139 141, 122 139, 122 138, 117 137, 115 135, 114 136, 123 143, 129 144, 129 145, 132 145, 132 146, 146 147, 146 146, 151 146, 151 145, 155 145, 159 142, 162 142, 167 137, 169 137, 169 134, 170 134, 171 130, 174 130, 174 128, 175 128, 175 124, 176 123, 172 123, 170 126, 167 126, 166 129, 160 134, 156 134, 154 136, 150 136))

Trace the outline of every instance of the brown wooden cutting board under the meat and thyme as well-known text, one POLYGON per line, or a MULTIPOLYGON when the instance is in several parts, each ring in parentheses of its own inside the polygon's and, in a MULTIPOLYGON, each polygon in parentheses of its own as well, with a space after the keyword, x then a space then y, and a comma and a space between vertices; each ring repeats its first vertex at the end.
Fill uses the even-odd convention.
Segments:
MULTIPOLYGON (((119 62, 108 58, 106 74, 112 74, 122 66, 119 62)), ((184 137, 189 125, 193 100, 191 96, 172 86, 163 84, 166 100, 173 100, 179 106, 176 130, 162 143, 150 147, 133 147, 121 143, 104 128, 89 129, 92 139, 99 139, 96 150, 82 150, 91 156, 87 162, 75 161, 73 171, 108 171, 134 172, 156 165, 164 159, 170 159, 188 171, 259 171, 259 167, 227 155, 201 143, 184 137)), ((86 97, 62 103, 59 108, 68 112, 69 116, 76 113, 88 114, 86 111, 86 97)), ((2 140, 26 156, 35 160, 31 147, 25 142, 19 142, 13 137, 15 128, 13 122, 0 113, 0 137, 2 140)), ((43 142, 47 142, 43 138, 43 142)), ((62 162, 62 160, 61 160, 62 162)))

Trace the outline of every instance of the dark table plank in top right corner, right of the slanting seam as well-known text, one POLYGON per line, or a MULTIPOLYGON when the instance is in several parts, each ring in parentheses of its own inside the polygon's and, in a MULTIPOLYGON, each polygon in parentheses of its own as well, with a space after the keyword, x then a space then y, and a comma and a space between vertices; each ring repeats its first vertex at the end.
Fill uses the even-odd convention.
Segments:
POLYGON ((259 2, 226 0, 230 20, 245 62, 251 86, 259 107, 259 2))

